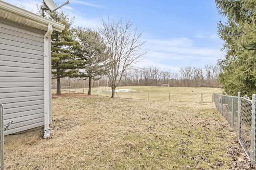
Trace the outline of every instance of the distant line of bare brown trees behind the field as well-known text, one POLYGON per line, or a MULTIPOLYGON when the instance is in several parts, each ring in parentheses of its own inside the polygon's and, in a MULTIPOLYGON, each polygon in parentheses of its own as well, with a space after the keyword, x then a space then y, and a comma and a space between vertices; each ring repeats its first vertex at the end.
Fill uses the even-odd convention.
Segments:
MULTIPOLYGON (((208 64, 204 67, 186 66, 180 68, 179 72, 162 71, 157 67, 149 66, 137 70, 124 72, 120 86, 162 86, 168 84, 172 87, 218 87, 222 85, 218 82, 220 66, 208 64)), ((56 82, 53 82, 53 84, 56 82)), ((64 78, 62 86, 77 88, 88 88, 88 80, 78 78, 64 78)), ((92 87, 109 86, 106 76, 92 82, 92 87)))

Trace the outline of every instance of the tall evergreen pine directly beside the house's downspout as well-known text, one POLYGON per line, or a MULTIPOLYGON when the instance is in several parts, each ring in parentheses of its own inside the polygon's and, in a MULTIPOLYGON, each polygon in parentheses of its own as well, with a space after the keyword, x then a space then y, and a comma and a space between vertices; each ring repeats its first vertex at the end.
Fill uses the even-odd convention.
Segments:
POLYGON ((61 94, 60 78, 74 77, 83 61, 80 54, 76 53, 80 44, 75 40, 70 28, 74 18, 69 18, 68 13, 59 11, 50 13, 50 19, 65 25, 61 33, 52 33, 52 79, 57 79, 57 94, 61 94))

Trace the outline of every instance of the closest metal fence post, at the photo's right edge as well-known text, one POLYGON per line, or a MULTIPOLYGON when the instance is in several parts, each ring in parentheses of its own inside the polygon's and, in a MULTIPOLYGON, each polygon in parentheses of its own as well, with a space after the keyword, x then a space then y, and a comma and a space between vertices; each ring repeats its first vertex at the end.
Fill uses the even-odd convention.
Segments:
POLYGON ((251 163, 255 165, 255 101, 256 94, 252 95, 252 130, 251 130, 251 163))

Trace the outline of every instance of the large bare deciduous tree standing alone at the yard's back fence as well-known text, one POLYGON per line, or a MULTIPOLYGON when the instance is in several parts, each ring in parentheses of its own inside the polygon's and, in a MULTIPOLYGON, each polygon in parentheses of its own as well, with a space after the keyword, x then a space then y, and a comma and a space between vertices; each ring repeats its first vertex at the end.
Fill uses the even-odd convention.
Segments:
POLYGON ((99 32, 104 38, 108 55, 105 56, 104 65, 106 76, 112 88, 112 98, 119 85, 125 70, 129 70, 138 63, 147 51, 142 49, 146 41, 141 39, 142 33, 130 21, 102 19, 99 32))

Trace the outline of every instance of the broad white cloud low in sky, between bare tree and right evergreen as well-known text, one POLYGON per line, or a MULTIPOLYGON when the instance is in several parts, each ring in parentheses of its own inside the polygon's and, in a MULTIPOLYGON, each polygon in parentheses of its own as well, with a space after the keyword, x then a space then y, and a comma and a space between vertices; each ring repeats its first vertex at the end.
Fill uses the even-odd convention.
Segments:
POLYGON ((179 72, 185 66, 204 67, 206 64, 216 64, 224 56, 224 52, 219 49, 195 47, 193 41, 187 38, 148 39, 145 47, 149 49, 148 57, 140 66, 153 65, 172 72, 179 72))

